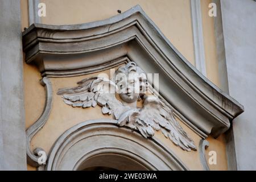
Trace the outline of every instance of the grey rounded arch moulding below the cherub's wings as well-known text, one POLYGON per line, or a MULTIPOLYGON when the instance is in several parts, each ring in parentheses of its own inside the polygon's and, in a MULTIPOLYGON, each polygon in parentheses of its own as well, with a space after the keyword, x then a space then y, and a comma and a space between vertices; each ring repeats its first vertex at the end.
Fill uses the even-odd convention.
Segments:
POLYGON ((52 146, 46 170, 82 169, 86 160, 102 154, 126 156, 146 170, 188 170, 174 152, 155 137, 145 139, 137 132, 131 133, 130 129, 116 125, 117 120, 98 119, 71 127, 52 146))

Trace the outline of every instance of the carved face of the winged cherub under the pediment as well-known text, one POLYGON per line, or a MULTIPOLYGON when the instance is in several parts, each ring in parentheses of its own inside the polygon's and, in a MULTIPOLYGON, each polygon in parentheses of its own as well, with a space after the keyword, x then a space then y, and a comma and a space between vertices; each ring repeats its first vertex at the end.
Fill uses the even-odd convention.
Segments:
POLYGON ((118 82, 119 96, 123 101, 132 103, 137 101, 140 92, 139 76, 136 72, 130 72, 128 76, 122 75, 118 82))

